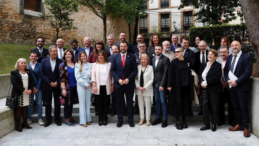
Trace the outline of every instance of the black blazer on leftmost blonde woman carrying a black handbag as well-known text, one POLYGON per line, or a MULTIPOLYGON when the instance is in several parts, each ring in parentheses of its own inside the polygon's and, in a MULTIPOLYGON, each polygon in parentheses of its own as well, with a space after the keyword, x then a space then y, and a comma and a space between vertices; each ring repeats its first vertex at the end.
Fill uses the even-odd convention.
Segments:
MULTIPOLYGON (((29 81, 28 89, 27 90, 33 91, 34 80, 33 80, 33 76, 32 76, 31 70, 26 69, 25 71, 28 74, 28 81, 29 81)), ((11 96, 12 97, 19 97, 19 96, 21 96, 21 93, 23 93, 25 88, 23 87, 23 82, 22 82, 21 74, 19 73, 18 69, 11 71, 11 83, 13 85, 12 91, 11 91, 11 96)))

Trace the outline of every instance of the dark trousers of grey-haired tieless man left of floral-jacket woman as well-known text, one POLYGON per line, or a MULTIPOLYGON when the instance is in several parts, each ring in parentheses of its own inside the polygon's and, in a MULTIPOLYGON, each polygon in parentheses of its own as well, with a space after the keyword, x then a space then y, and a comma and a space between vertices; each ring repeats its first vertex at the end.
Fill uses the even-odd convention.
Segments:
POLYGON ((45 114, 46 114, 46 121, 51 122, 52 116, 52 95, 54 99, 54 119, 55 122, 60 120, 60 99, 59 99, 59 90, 51 89, 51 90, 43 90, 43 96, 45 97, 46 106, 45 106, 45 114))

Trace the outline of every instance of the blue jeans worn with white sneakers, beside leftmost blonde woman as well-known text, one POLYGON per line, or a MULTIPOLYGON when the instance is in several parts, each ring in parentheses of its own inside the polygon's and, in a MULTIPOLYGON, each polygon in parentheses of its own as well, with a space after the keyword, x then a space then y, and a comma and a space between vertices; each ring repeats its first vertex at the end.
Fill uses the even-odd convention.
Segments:
POLYGON ((31 105, 28 107, 28 119, 31 121, 31 115, 33 113, 33 102, 34 102, 34 95, 36 96, 36 106, 37 106, 37 113, 38 113, 38 119, 42 119, 42 90, 39 89, 39 91, 36 94, 31 94, 31 105))

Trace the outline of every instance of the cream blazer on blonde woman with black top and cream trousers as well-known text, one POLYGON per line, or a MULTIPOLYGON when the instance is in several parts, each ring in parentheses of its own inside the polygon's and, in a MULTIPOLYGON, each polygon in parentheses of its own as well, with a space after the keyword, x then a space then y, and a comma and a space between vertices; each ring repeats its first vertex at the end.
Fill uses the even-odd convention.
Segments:
POLYGON ((138 65, 138 73, 135 77, 135 94, 136 95, 143 95, 143 96, 153 96, 153 82, 154 82, 154 72, 153 72, 153 67, 151 65, 147 65, 147 68, 145 72, 143 73, 143 78, 144 78, 144 88, 145 90, 142 92, 139 89, 137 89, 138 86, 140 86, 140 73, 141 73, 141 68, 142 65, 138 65), (142 92, 142 93, 141 93, 142 92))

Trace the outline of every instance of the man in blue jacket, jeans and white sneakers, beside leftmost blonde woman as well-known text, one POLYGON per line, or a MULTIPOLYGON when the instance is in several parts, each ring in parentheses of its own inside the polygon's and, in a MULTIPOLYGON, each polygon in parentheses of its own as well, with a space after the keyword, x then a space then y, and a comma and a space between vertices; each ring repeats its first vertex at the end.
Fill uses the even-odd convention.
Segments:
MULTIPOLYGON (((42 90, 41 90, 41 77, 39 76, 40 71, 40 63, 36 61, 38 58, 36 52, 30 53, 30 63, 28 64, 29 69, 31 70, 35 86, 33 88, 33 92, 31 94, 31 100, 34 100, 34 95, 36 97, 36 104, 37 104, 37 113, 38 113, 38 123, 40 126, 44 125, 44 122, 42 121, 42 90)), ((31 115, 33 113, 33 103, 31 102, 31 105, 28 107, 28 124, 31 124, 31 115)))

